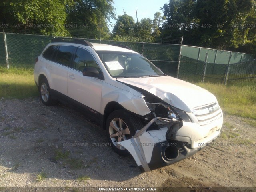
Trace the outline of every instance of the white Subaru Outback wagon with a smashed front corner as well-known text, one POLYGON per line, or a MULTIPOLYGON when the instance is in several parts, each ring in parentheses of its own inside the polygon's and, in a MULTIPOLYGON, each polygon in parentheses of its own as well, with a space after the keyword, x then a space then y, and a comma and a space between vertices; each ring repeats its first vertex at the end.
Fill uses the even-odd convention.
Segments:
POLYGON ((214 141, 223 123, 216 97, 167 76, 122 45, 54 38, 36 58, 43 104, 83 110, 106 129, 113 150, 145 171, 187 158, 214 141))

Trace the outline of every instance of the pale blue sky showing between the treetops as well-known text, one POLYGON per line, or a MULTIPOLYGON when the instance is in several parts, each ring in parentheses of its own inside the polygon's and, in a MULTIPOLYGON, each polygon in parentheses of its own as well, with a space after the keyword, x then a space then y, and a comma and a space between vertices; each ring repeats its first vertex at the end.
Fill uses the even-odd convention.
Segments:
MULTIPOLYGON (((123 15, 123 9, 126 14, 132 16, 134 21, 137 21, 136 10, 138 9, 138 20, 140 21, 143 18, 154 19, 154 14, 156 12, 162 13, 160 10, 165 3, 168 3, 169 0, 114 0, 114 8, 116 8, 116 18, 118 15, 123 15)), ((110 32, 112 32, 114 24, 116 21, 111 19, 108 22, 108 27, 110 32), (112 22, 112 23, 110 23, 112 22)))

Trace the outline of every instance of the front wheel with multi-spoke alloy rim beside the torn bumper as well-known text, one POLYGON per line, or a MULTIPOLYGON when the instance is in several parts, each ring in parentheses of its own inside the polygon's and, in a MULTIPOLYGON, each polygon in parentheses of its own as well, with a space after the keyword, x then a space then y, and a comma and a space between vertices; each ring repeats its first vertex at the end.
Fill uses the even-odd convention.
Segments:
POLYGON ((140 119, 126 110, 121 109, 112 112, 106 121, 106 135, 112 149, 122 156, 130 155, 128 150, 116 143, 132 138, 136 131, 142 127, 140 119))

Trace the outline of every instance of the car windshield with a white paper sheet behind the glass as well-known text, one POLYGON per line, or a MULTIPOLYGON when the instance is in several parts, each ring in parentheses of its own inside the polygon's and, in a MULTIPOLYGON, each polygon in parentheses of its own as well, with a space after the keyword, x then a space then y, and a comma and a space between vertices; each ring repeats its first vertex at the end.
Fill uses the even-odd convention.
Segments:
POLYGON ((97 51, 109 74, 115 78, 165 76, 154 64, 138 53, 97 51))

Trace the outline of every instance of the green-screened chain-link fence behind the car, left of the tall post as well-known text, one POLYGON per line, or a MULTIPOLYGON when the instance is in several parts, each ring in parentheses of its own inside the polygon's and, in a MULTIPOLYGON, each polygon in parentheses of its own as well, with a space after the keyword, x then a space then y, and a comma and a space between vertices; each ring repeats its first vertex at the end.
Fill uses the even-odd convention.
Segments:
MULTIPOLYGON (((0 66, 7 68, 34 68, 34 61, 53 36, 0 33, 0 66), (4 41, 6 38, 6 43, 4 41)), ((144 55, 166 74, 175 76, 179 60, 180 44, 143 42, 119 42, 86 39, 102 44, 122 44, 144 55)))

